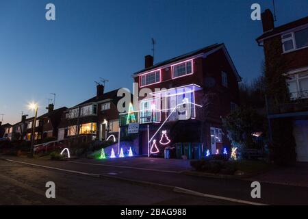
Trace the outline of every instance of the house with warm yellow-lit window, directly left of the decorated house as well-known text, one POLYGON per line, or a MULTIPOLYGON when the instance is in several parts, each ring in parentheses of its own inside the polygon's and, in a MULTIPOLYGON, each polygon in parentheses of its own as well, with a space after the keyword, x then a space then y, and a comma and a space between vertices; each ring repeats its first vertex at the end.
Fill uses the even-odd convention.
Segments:
POLYGON ((104 86, 98 84, 96 96, 67 109, 62 114, 58 140, 86 136, 87 140, 103 141, 111 134, 118 136, 117 103, 122 98, 117 96, 118 90, 105 93, 104 86))

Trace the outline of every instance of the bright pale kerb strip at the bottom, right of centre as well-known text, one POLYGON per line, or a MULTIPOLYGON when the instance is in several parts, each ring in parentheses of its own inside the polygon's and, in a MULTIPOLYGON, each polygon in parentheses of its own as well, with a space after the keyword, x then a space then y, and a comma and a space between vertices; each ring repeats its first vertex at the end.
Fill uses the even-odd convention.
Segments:
POLYGON ((262 203, 254 203, 254 202, 251 202, 251 201, 244 201, 244 200, 241 200, 241 199, 228 198, 228 197, 224 197, 224 196, 215 196, 215 195, 212 195, 212 194, 205 194, 205 193, 196 192, 196 191, 193 191, 193 190, 188 190, 188 189, 181 188, 181 187, 175 187, 173 189, 173 192, 191 194, 191 195, 194 195, 194 196, 202 196, 202 197, 207 197, 207 198, 216 198, 216 199, 220 199, 220 200, 224 200, 224 201, 231 201, 233 203, 242 203, 242 204, 246 204, 246 205, 266 205, 266 204, 262 204, 262 203))

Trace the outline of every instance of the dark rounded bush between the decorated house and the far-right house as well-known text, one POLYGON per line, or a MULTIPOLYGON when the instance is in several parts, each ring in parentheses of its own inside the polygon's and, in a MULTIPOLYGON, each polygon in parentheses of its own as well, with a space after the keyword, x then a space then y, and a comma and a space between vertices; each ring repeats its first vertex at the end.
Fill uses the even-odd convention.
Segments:
POLYGON ((227 129, 227 137, 233 146, 253 148, 253 133, 262 129, 264 120, 252 107, 238 107, 222 119, 222 124, 227 129))

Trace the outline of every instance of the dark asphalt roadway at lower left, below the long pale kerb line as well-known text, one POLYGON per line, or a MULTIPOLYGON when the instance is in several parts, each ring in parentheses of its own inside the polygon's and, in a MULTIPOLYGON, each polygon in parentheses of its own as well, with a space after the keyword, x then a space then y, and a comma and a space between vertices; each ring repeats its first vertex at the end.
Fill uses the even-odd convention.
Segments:
MULTIPOLYGON (((65 162, 63 162, 65 163, 65 162)), ((48 170, 0 159, 0 205, 233 205, 170 190, 48 170), (46 198, 45 183, 55 183, 46 198)))

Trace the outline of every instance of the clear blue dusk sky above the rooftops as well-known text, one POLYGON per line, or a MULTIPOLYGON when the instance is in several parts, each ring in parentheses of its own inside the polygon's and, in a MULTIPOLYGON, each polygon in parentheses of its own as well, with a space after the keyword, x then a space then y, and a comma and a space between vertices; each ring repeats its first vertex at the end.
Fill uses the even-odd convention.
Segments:
MULTIPOLYGON (((246 81, 261 72, 264 58, 255 38, 261 21, 251 21, 251 5, 271 8, 270 0, 1 0, 0 114, 20 120, 27 102, 46 110, 49 93, 56 107, 71 107, 94 96, 94 81, 109 79, 105 90, 131 88, 132 73, 144 67, 157 41, 155 62, 209 44, 224 42, 246 81), (56 21, 45 20, 54 3, 56 21)), ((278 0, 276 25, 308 14, 307 0, 278 0)))

